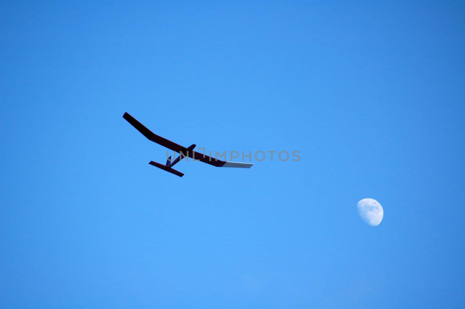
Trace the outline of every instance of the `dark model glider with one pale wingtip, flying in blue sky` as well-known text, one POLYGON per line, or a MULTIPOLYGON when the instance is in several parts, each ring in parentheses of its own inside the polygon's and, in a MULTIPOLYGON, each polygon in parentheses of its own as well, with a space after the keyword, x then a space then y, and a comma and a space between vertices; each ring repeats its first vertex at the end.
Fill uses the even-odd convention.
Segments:
POLYGON ((134 128, 136 128, 140 133, 142 133, 146 138, 148 138, 152 142, 165 146, 166 148, 171 149, 173 151, 179 152, 178 158, 175 158, 173 161, 171 161, 171 156, 170 156, 166 160, 165 165, 160 164, 158 162, 153 162, 153 161, 149 162, 149 164, 156 166, 162 170, 169 171, 170 173, 177 175, 179 177, 183 177, 184 174, 181 173, 180 171, 176 171, 175 169, 173 169, 173 165, 178 163, 180 160, 182 160, 182 158, 185 158, 185 157, 193 158, 194 160, 198 160, 206 164, 210 164, 210 165, 217 166, 217 167, 242 167, 242 168, 248 169, 253 165, 253 163, 229 162, 229 161, 218 160, 217 158, 213 158, 203 153, 194 151, 194 148, 196 146, 195 144, 192 144, 189 147, 184 147, 166 138, 162 138, 161 136, 147 129, 144 125, 142 125, 139 121, 137 121, 136 118, 129 115, 127 112, 124 113, 123 118, 125 118, 127 122, 133 125, 134 128))

